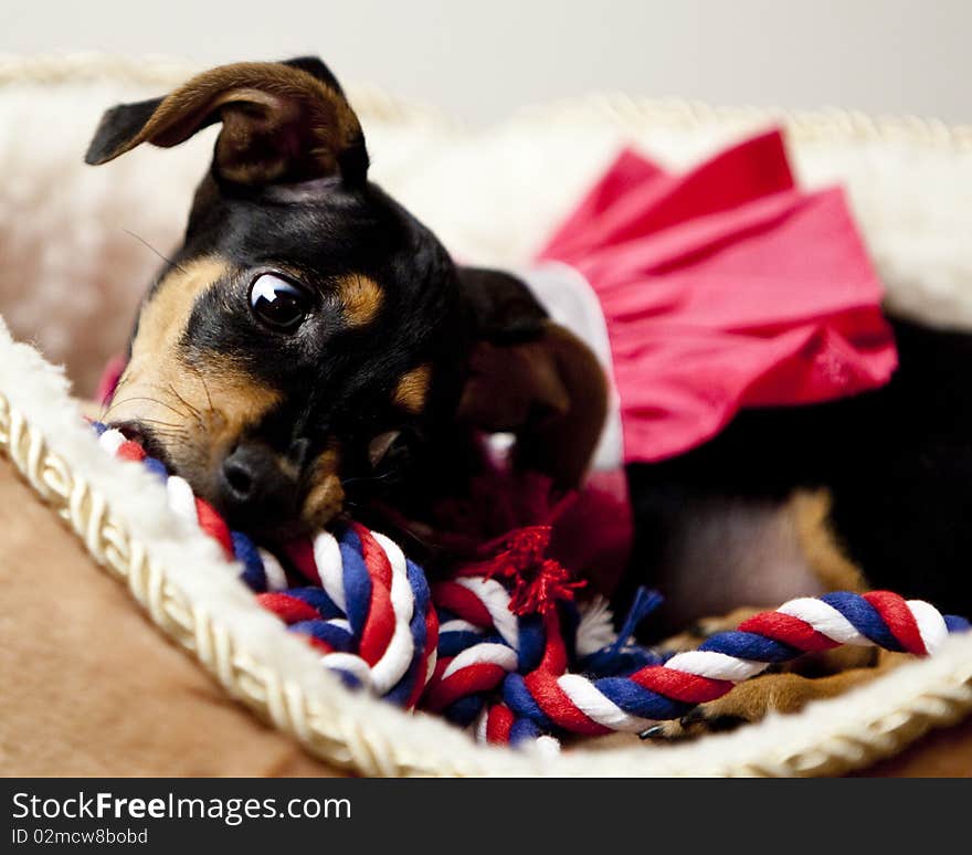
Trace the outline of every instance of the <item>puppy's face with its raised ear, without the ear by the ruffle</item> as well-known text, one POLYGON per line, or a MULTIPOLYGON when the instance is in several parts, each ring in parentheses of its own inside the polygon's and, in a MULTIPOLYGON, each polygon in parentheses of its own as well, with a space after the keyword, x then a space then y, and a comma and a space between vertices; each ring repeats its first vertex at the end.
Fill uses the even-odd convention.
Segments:
POLYGON ((232 525, 319 526, 395 437, 454 407, 456 271, 369 182, 358 119, 317 60, 228 65, 117 106, 86 160, 213 123, 211 169, 140 309, 107 419, 232 525))

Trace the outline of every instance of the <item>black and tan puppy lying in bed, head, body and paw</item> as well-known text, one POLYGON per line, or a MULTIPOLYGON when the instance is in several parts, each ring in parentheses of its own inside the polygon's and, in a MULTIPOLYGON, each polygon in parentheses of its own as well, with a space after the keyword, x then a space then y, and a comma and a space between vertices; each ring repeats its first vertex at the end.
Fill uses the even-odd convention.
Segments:
MULTIPOLYGON (((115 107, 87 161, 213 123, 211 169, 141 307, 112 422, 266 537, 367 515, 377 493, 421 524, 475 472, 476 431, 510 431, 520 466, 580 483, 606 411, 596 359, 522 283, 457 267, 368 180, 358 119, 319 61, 229 65, 115 107)), ((697 451, 631 467, 626 584, 658 584, 673 624, 868 583, 972 611, 972 344, 897 332, 887 389, 744 413, 697 451)), ((772 682, 792 677, 712 712, 833 690, 807 682, 818 689, 780 703, 772 682)))

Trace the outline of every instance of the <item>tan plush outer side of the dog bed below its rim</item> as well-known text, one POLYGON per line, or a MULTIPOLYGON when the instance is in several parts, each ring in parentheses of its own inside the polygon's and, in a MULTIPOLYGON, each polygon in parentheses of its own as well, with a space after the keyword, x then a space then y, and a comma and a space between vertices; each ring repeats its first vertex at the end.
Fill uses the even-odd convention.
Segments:
POLYGON ((0 456, 0 772, 335 775, 230 700, 0 456))

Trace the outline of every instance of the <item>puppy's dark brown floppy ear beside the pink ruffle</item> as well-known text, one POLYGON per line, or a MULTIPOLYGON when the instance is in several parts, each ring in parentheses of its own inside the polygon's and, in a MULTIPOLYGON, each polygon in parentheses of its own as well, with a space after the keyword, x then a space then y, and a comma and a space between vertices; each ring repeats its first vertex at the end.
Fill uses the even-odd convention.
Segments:
POLYGON ((513 461, 561 489, 578 486, 608 414, 608 381, 591 349, 554 324, 519 279, 461 268, 476 341, 459 421, 516 436, 513 461))

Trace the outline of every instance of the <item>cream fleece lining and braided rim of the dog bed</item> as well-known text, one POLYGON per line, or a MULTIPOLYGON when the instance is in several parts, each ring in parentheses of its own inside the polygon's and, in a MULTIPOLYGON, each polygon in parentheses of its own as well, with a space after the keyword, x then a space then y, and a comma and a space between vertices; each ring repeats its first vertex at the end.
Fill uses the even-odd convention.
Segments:
MULTIPOLYGON (((346 690, 260 609, 211 542, 181 529, 146 473, 106 460, 51 365, 64 363, 76 392, 91 394, 158 264, 151 247, 166 252, 176 242, 212 141, 201 135, 172 151, 136 151, 102 171, 81 162, 87 137, 106 106, 159 94, 192 71, 162 60, 0 59, 0 310, 9 326, 0 329, 0 448, 229 695, 328 764, 364 774, 833 774, 972 710, 968 637, 844 697, 736 733, 557 757, 475 746, 434 718, 346 690)), ((972 184, 970 128, 596 96, 474 131, 373 91, 352 88, 351 101, 369 134, 374 179, 454 253, 501 266, 530 257, 622 144, 679 167, 781 122, 807 184, 848 186, 889 304, 972 328, 962 193, 972 184)), ((24 613, 4 604, 8 614, 24 613)), ((126 608, 105 603, 103 624, 120 626, 126 608)), ((42 631, 14 630, 20 637, 42 631)), ((62 655, 70 663, 71 650, 62 655)), ((6 675, 7 684, 14 677, 6 675)), ((98 685, 85 690, 113 697, 98 685)), ((74 703, 70 693, 53 697, 67 709, 74 703)), ((202 735, 218 727, 202 701, 194 727, 202 735)), ((9 743, 22 735, 2 736, 9 743)), ((56 743, 56 735, 44 738, 56 743)))

